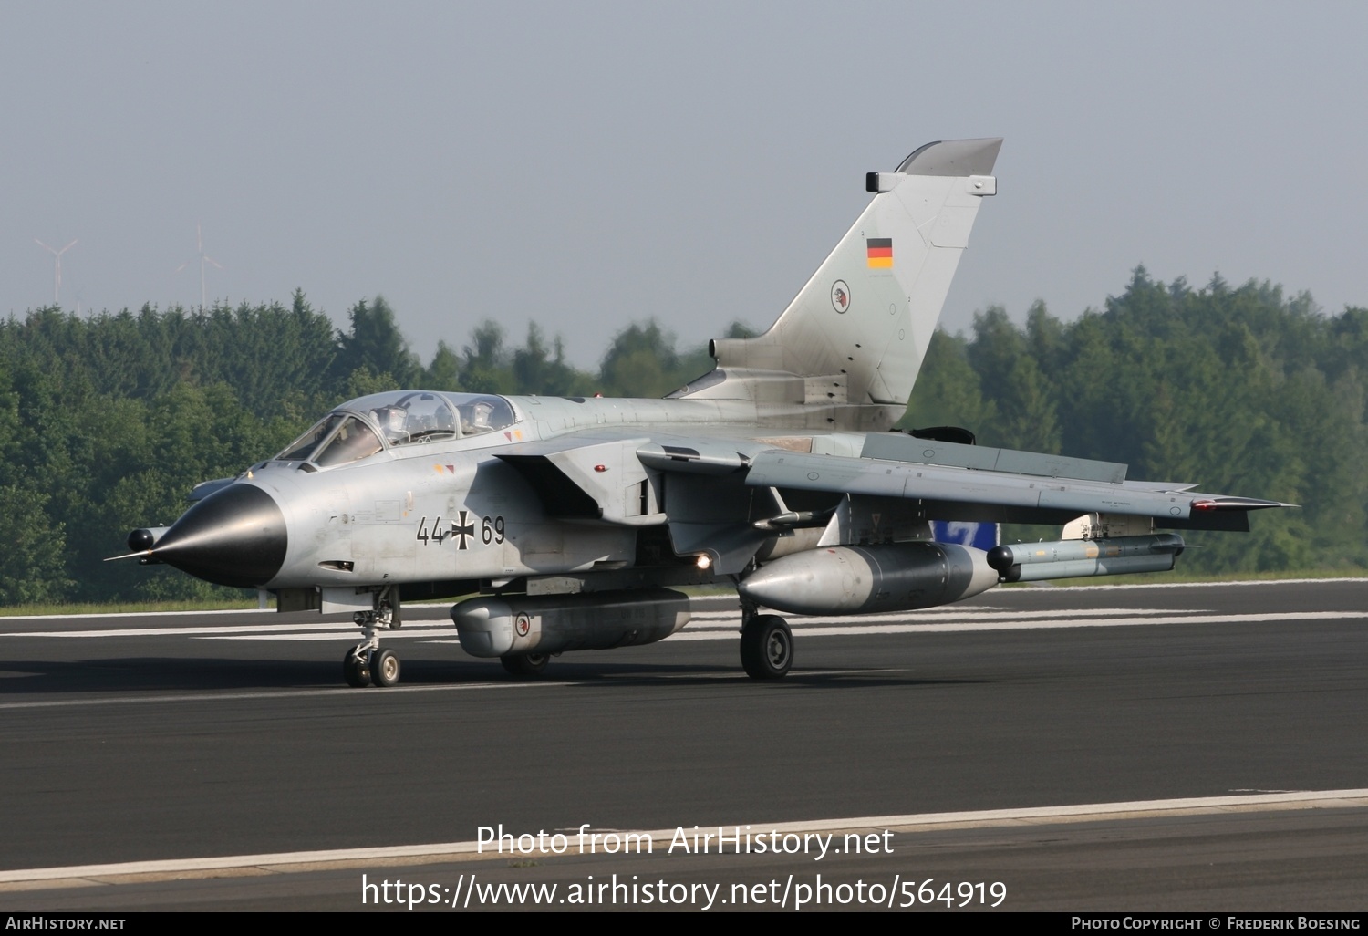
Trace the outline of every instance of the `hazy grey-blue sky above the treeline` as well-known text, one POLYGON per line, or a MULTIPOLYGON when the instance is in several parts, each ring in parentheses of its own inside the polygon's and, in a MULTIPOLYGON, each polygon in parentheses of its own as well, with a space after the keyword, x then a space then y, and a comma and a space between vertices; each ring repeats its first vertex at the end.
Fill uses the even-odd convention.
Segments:
POLYGON ((1156 278, 1368 305, 1363 3, 0 0, 0 313, 383 294, 413 349, 528 320, 767 326, 918 145, 1005 137, 943 323, 1156 278), (172 275, 182 263, 192 261, 172 275))

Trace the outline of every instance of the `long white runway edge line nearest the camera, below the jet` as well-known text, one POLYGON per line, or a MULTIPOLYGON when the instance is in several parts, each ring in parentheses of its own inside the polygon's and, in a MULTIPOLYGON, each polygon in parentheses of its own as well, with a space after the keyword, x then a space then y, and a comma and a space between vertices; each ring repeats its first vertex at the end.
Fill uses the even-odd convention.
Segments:
MULTIPOLYGON (((1029 809, 988 809, 960 813, 912 813, 904 816, 862 816, 858 818, 814 820, 807 822, 724 822, 752 835, 841 833, 893 831, 904 833, 934 832, 953 828, 986 828, 1010 825, 1048 825, 1056 822, 1099 822, 1116 818, 1157 818, 1174 814, 1213 814, 1285 811, 1302 809, 1350 809, 1368 806, 1368 790, 1321 790, 1246 796, 1202 796, 1193 799, 1148 799, 1122 803, 1085 803, 1073 806, 1038 806, 1029 809)), ((588 829, 590 832, 601 829, 588 829)), ((613 829, 624 832, 624 829, 613 829)), ((636 832, 650 836, 653 843, 670 842, 674 829, 636 832)), ((577 850, 572 848, 577 854, 577 850)), ((120 884, 129 879, 171 880, 176 874, 197 872, 228 873, 234 869, 261 869, 278 873, 321 870, 324 868, 360 866, 384 861, 394 863, 436 863, 438 861, 508 859, 488 843, 446 842, 438 844, 389 846, 378 848, 331 848, 327 851, 283 851, 256 855, 224 855, 213 858, 185 858, 172 861, 131 861, 111 865, 71 865, 66 868, 25 868, 0 872, 0 888, 31 889, 36 883, 52 881, 63 887, 120 884), (402 862, 402 859, 409 859, 402 862), (4 888, 5 884, 16 885, 4 888)))

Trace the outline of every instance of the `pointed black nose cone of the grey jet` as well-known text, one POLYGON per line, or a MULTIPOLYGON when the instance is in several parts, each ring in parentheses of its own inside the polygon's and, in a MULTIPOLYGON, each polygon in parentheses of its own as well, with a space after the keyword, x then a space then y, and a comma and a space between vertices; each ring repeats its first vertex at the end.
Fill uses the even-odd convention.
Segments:
POLYGON ((230 484, 186 510, 152 554, 205 582, 256 588, 280 571, 286 543, 275 498, 254 484, 230 484))

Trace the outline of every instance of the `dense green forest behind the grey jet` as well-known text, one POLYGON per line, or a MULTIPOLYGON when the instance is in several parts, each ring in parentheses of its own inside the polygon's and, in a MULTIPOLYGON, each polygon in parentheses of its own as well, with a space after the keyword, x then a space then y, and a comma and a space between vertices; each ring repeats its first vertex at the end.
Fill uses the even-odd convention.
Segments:
MULTIPOLYGON (((235 594, 166 567, 103 562, 127 532, 164 525, 205 479, 282 449, 342 400, 423 386, 508 394, 659 397, 713 367, 707 337, 680 350, 658 322, 621 331, 596 371, 532 324, 495 322, 427 364, 380 297, 337 330, 289 304, 145 305, 0 322, 0 605, 235 594)), ((736 323, 725 337, 754 334, 736 323)), ((1279 286, 1194 289, 1137 268, 1071 320, 1001 308, 969 334, 937 331, 903 427, 963 426, 981 445, 1123 461, 1130 476, 1300 504, 1254 532, 1193 534, 1186 571, 1368 567, 1368 309, 1338 315, 1279 286)))

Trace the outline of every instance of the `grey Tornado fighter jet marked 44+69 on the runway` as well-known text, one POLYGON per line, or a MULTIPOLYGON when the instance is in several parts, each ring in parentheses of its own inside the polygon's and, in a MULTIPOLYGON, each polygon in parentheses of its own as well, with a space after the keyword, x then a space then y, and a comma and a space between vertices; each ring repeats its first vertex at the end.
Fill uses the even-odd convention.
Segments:
POLYGON ((731 580, 740 655, 788 673, 763 609, 932 608, 1026 582, 1171 569, 1176 532, 1248 530, 1276 501, 1126 480, 1126 465, 892 430, 936 328, 1001 140, 922 146, 870 172, 869 207, 763 335, 665 400, 401 390, 343 402, 272 458, 205 482, 131 556, 353 612, 352 686, 393 686, 401 598, 464 597, 461 647, 516 675, 553 654, 662 640, 679 586, 731 580), (937 543, 932 520, 1057 523, 1057 542, 937 543))

